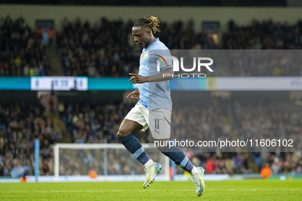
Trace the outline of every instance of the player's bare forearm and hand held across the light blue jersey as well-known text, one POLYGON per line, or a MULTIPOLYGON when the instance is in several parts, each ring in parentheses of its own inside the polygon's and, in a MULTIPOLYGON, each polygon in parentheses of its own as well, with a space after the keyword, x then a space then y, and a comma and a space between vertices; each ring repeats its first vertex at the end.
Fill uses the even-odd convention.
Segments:
POLYGON ((145 82, 161 82, 173 79, 173 68, 168 68, 164 71, 155 74, 154 76, 144 77, 134 73, 129 73, 129 76, 131 76, 129 82, 132 82, 133 84, 142 84, 145 82))

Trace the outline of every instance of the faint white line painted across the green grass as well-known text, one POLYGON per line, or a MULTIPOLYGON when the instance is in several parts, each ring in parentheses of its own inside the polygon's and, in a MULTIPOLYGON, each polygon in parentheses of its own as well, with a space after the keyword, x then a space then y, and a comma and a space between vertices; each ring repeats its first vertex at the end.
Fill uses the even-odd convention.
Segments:
MULTIPOLYGON (((280 189, 225 189, 229 191, 276 191, 280 189)), ((286 189, 291 191, 300 191, 302 189, 286 189)), ((136 191, 136 192, 147 192, 147 191, 167 191, 167 190, 51 190, 51 191, 0 191, 1 193, 76 193, 76 192, 127 192, 127 191, 136 191)), ((178 189, 173 191, 194 191, 194 189, 178 189)), ((221 191, 216 189, 205 189, 204 191, 221 191)))

